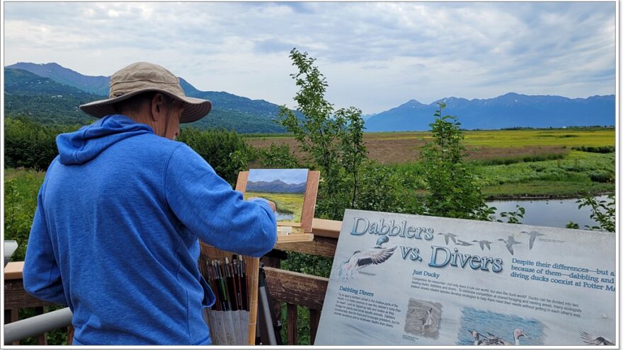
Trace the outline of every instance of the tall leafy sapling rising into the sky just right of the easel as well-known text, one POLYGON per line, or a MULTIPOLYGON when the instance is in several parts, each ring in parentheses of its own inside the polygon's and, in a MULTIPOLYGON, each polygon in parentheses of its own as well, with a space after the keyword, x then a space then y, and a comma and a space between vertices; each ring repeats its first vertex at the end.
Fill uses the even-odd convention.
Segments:
POLYGON ((292 74, 299 88, 294 99, 305 118, 282 106, 280 124, 295 136, 309 167, 321 171, 316 214, 341 220, 348 202, 355 204, 360 167, 367 158, 361 111, 350 107, 334 112, 324 98, 328 85, 315 59, 297 49, 290 51, 290 58, 298 69, 292 74))

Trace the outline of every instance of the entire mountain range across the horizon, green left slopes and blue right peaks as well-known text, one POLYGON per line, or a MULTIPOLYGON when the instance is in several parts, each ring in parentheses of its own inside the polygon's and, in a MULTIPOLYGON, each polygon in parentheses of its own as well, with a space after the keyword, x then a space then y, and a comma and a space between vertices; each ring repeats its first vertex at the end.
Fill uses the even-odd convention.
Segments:
MULTIPOLYGON (((78 105, 108 95, 108 76, 85 76, 56 63, 20 62, 6 66, 4 72, 5 115, 28 115, 43 124, 88 124, 93 118, 81 112, 78 105)), ((184 78, 180 83, 186 95, 212 101, 209 117, 193 123, 195 127, 224 127, 241 133, 285 132, 275 122, 279 105, 224 91, 200 91, 184 78)), ((457 115, 464 129, 615 124, 615 95, 571 99, 507 93, 488 99, 442 98, 428 105, 409 100, 376 115, 363 116, 366 131, 428 130, 441 102, 446 104, 442 115, 457 115)))

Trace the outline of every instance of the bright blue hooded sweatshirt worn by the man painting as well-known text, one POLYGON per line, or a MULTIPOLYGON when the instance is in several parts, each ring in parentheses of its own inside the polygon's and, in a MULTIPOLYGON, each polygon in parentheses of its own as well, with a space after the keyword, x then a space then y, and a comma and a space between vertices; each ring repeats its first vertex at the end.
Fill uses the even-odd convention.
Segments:
POLYGON ((211 344, 215 296, 199 240, 259 257, 277 240, 273 211, 244 201, 181 142, 123 115, 57 137, 38 195, 24 288, 69 305, 74 344, 211 344))

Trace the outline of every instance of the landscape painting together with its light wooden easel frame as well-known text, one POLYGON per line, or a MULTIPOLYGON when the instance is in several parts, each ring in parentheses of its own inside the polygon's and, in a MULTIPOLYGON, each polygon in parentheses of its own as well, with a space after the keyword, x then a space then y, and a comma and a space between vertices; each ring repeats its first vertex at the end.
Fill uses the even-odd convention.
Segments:
POLYGON ((314 219, 320 172, 307 169, 251 169, 238 175, 236 190, 245 199, 260 197, 275 203, 278 243, 314 239, 314 219))

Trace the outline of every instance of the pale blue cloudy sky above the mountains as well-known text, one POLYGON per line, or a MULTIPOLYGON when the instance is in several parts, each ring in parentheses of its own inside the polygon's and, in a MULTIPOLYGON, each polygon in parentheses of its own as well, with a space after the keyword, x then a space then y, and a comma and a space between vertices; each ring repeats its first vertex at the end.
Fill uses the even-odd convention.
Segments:
POLYGON ((615 2, 4 3, 4 65, 110 76, 137 61, 295 107, 290 49, 336 107, 615 93, 615 2))

